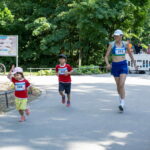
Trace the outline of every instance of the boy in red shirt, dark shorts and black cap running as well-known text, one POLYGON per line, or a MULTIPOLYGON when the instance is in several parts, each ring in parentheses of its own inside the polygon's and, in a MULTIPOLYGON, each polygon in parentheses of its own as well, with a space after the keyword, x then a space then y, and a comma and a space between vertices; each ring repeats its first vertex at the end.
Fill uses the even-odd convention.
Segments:
POLYGON ((66 103, 67 94, 67 107, 70 106, 70 92, 71 92, 71 73, 73 72, 72 67, 66 64, 67 57, 64 54, 59 55, 59 65, 56 66, 56 73, 59 79, 59 93, 62 96, 62 103, 66 103))

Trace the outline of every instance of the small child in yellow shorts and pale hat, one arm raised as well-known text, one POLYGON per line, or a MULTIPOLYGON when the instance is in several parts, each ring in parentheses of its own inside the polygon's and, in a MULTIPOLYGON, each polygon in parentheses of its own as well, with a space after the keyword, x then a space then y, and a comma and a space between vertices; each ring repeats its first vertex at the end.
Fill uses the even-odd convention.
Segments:
POLYGON ((28 101, 28 88, 30 87, 30 83, 28 80, 24 78, 23 69, 20 67, 16 67, 13 65, 9 74, 8 79, 10 79, 15 85, 15 103, 16 109, 18 110, 21 118, 19 122, 25 121, 25 116, 30 115, 30 110, 27 108, 28 101))

